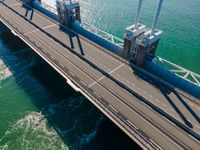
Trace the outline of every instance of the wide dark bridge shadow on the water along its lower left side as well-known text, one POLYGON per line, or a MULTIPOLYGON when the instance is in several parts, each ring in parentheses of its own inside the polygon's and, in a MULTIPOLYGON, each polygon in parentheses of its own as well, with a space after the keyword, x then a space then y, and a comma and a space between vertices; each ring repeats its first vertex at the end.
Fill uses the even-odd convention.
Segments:
POLYGON ((0 36, 8 49, 6 56, 15 56, 20 64, 16 66, 2 57, 13 72, 12 78, 29 95, 31 103, 45 116, 48 125, 55 129, 69 149, 140 149, 20 39, 11 33, 0 36), (19 66, 27 67, 22 70, 19 66))

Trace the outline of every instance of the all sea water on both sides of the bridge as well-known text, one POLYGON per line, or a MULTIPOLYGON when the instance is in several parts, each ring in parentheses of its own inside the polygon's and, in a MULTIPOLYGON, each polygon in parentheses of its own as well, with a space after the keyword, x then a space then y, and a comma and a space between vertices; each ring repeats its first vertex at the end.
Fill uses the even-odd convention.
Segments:
MULTIPOLYGON (((149 27, 157 2, 146 0, 142 8, 141 21, 149 27)), ((136 0, 80 3, 84 22, 119 38, 134 23, 136 0)), ((164 1, 158 27, 164 32, 157 54, 200 73, 199 0, 164 1)), ((0 24, 0 150, 35 149, 139 147, 0 24)))

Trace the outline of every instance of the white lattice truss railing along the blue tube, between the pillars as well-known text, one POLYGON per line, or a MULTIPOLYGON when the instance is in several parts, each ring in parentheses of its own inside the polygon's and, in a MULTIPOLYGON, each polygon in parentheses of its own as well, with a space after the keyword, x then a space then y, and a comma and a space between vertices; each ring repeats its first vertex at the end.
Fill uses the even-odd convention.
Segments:
MULTIPOLYGON (((46 8, 47 10, 57 14, 57 10, 56 8, 54 8, 53 6, 50 6, 48 3, 46 2, 41 2, 41 5, 46 8)), ((112 34, 109 34, 99 28, 96 28, 92 25, 89 25, 89 24, 86 24, 86 23, 82 23, 82 26, 84 29, 110 41, 111 43, 119 46, 119 47, 122 47, 123 48, 123 44, 124 44, 124 41, 118 37, 115 37, 113 36, 112 34)), ((200 86, 200 75, 190 71, 190 70, 187 70, 181 66, 178 66, 168 60, 165 60, 164 58, 161 58, 161 57, 157 57, 156 58, 156 62, 157 64, 159 65, 162 65, 163 67, 165 67, 166 69, 168 69, 169 71, 175 73, 177 76, 180 76, 181 78, 189 81, 189 82, 192 82, 198 86, 200 86)))

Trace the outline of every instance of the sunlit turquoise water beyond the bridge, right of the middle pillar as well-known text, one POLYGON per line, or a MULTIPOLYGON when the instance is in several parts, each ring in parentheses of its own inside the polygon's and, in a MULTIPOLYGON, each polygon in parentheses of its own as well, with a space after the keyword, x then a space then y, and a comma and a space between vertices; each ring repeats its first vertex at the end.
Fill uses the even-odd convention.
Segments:
MULTIPOLYGON (((134 24, 137 0, 81 0, 84 21, 119 38, 134 24)), ((144 0, 141 22, 149 28, 158 0, 144 0)), ((200 1, 164 0, 157 55, 200 74, 200 1)))

